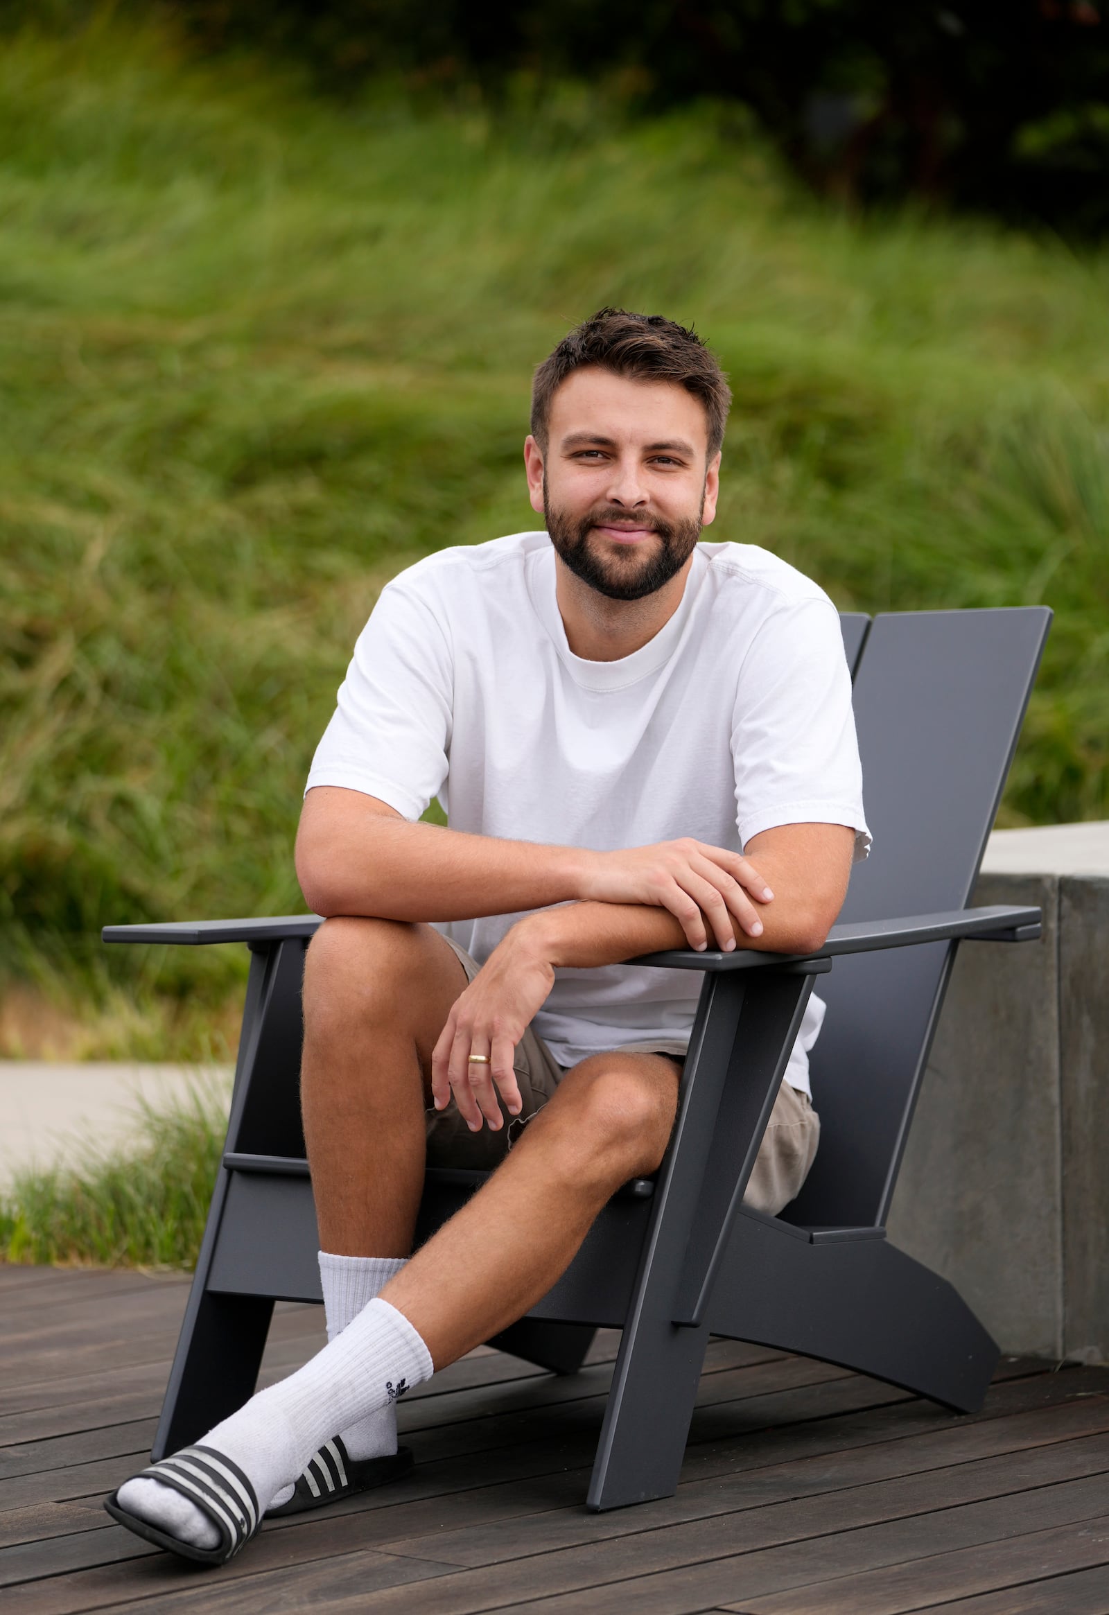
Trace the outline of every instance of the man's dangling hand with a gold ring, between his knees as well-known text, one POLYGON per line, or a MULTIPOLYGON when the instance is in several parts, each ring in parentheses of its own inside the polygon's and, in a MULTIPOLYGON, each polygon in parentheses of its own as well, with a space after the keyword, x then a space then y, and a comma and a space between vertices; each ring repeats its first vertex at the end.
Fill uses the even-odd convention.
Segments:
POLYGON ((455 1103, 471 1132, 483 1121, 492 1132, 504 1126, 497 1092, 510 1116, 523 1106, 512 1059, 517 1043, 554 987, 554 967, 526 921, 513 925, 492 950, 467 990, 455 998, 431 1056, 431 1097, 436 1110, 455 1103), (489 1064, 470 1063, 489 1055, 489 1064), (496 1090, 494 1090, 496 1084, 496 1090))

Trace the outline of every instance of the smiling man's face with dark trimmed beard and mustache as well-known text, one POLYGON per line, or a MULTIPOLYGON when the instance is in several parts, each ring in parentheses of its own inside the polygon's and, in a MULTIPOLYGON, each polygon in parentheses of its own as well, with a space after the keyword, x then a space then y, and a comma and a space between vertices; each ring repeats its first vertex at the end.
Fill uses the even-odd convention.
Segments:
POLYGON ((565 565, 610 599, 668 583, 717 512, 702 405, 668 381, 576 370, 550 402, 546 455, 525 446, 531 504, 565 565))

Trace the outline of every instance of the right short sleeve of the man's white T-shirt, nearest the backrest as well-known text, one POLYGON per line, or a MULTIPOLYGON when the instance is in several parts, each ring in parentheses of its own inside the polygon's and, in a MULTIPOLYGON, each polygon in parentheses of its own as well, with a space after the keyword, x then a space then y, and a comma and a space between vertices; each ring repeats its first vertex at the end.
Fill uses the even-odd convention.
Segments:
POLYGON ((743 846, 781 824, 846 824, 856 858, 870 832, 839 617, 828 599, 783 604, 744 657, 731 730, 743 846))

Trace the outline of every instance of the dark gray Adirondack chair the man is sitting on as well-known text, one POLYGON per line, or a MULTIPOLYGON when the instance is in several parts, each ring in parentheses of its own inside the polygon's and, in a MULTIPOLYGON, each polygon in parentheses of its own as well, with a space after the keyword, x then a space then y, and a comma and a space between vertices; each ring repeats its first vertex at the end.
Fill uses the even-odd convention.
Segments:
MULTIPOLYGON (((1040 935, 1040 911, 967 909, 1049 612, 844 620, 875 849, 818 956, 654 954, 704 974, 681 1103, 654 1181, 628 1184, 531 1313, 492 1344, 576 1370, 623 1329, 591 1508, 675 1491, 709 1334, 856 1368, 977 1410, 998 1349, 956 1290, 885 1239, 917 1089, 960 938, 1040 935), (865 636, 865 646, 864 646, 865 636), (835 963, 835 971, 831 969, 835 963), (743 1208, 814 977, 828 1016, 812 1061, 822 1142, 780 1218, 743 1208)), ((155 1439, 195 1441, 253 1391, 274 1298, 320 1300, 299 1113, 300 979, 312 916, 121 925, 105 942, 252 950, 224 1171, 155 1439)), ((429 1171, 426 1237, 481 1182, 429 1171)))

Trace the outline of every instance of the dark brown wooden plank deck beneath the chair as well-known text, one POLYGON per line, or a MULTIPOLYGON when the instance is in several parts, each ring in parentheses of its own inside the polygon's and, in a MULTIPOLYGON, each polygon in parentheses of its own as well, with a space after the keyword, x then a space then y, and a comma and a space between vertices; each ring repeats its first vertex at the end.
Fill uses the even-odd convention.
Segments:
MULTIPOLYGON (((3 1615, 1109 1612, 1109 1368, 1012 1360, 957 1418, 717 1340, 678 1495, 588 1515, 612 1332, 567 1379, 475 1352, 402 1405, 412 1478, 190 1568, 100 1507, 145 1460, 184 1298, 0 1268, 3 1615)), ((265 1378, 320 1342, 318 1308, 279 1308, 265 1378)))

